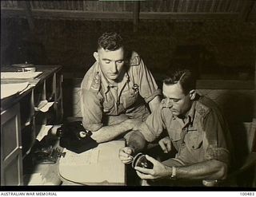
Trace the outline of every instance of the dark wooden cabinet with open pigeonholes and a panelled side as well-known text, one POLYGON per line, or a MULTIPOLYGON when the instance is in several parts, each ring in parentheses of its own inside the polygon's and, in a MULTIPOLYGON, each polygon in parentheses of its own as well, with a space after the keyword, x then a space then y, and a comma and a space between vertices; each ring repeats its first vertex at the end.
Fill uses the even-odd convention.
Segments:
POLYGON ((42 65, 36 69, 42 74, 34 79, 1 80, 1 83, 30 83, 18 96, 1 100, 1 185, 23 184, 23 161, 38 133, 46 125, 62 122, 61 66, 42 65))

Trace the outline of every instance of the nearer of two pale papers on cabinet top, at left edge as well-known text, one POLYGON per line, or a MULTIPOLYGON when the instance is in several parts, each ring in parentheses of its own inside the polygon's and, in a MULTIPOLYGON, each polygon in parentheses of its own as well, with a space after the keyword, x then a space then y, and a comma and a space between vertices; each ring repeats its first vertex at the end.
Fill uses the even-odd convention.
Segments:
POLYGON ((29 86, 29 82, 17 84, 1 84, 1 99, 10 97, 16 93, 22 93, 29 86))

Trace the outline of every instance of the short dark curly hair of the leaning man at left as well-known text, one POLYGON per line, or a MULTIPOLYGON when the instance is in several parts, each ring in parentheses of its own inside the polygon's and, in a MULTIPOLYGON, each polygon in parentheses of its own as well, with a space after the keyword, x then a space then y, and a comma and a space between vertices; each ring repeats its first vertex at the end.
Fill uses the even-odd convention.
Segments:
POLYGON ((106 32, 98 38, 98 49, 114 51, 124 47, 123 39, 119 33, 106 32))

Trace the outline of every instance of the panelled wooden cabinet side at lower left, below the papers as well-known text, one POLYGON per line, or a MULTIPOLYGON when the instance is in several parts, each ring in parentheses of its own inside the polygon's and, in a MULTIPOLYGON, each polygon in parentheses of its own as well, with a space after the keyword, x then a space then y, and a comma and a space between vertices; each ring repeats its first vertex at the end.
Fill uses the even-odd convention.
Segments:
POLYGON ((1 185, 22 185, 19 104, 1 113, 1 185))

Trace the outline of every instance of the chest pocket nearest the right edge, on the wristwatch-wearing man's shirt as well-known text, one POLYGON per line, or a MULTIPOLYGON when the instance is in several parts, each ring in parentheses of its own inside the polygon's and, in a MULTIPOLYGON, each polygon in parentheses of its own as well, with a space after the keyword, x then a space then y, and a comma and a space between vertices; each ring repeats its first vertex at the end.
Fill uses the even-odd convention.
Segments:
POLYGON ((198 131, 188 132, 185 136, 184 142, 191 150, 202 147, 202 133, 198 131))

